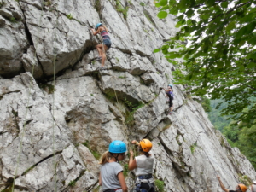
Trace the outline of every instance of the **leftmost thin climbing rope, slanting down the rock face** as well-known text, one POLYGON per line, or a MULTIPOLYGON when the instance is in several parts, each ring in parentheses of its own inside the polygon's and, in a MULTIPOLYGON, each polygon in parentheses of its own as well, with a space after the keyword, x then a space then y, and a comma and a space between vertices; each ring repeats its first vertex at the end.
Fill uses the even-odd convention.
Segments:
MULTIPOLYGON (((20 3, 19 3, 19 6, 20 6, 20 3)), ((44 15, 44 0, 43 0, 43 3, 42 3, 42 6, 41 6, 41 14, 40 14, 40 20, 39 20, 38 33, 39 33, 39 29, 41 28, 41 25, 42 25, 42 17, 43 17, 43 15, 44 15)), ((25 17, 25 15, 24 15, 24 17, 25 17)), ((38 34, 37 34, 37 41, 36 41, 36 44, 35 44, 35 53, 34 53, 35 60, 37 60, 38 38, 39 37, 38 37, 38 34)), ((14 181, 13 181, 12 188, 11 188, 12 192, 14 192, 14 189, 15 189, 15 179, 16 179, 16 176, 17 176, 18 168, 20 166, 20 155, 21 155, 21 150, 22 150, 22 145, 23 145, 23 137, 24 137, 24 134, 25 134, 25 131, 26 131, 26 120, 27 120, 27 113, 28 113, 29 102, 30 102, 30 97, 31 97, 32 82, 33 82, 33 76, 34 76, 34 67, 35 67, 35 63, 34 63, 34 65, 32 65, 32 77, 31 77, 30 83, 29 83, 28 96, 27 96, 27 102, 26 102, 25 121, 23 123, 23 129, 22 129, 22 132, 21 132, 20 145, 19 145, 19 153, 18 153, 18 156, 16 158, 17 164, 15 166, 14 181)))

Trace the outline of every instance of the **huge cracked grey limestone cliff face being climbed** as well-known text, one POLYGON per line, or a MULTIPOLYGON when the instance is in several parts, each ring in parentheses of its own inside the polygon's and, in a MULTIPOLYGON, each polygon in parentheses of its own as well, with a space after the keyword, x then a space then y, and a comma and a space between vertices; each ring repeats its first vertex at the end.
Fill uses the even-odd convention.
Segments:
MULTIPOLYGON (((2 2, 0 190, 101 191, 98 162, 108 144, 129 149, 143 137, 153 142, 154 179, 165 191, 220 192, 217 175, 229 189, 256 177, 183 85, 173 86, 169 114, 160 87, 173 84, 175 67, 153 51, 177 29, 172 15, 157 18, 153 1, 2 2), (102 38, 90 32, 98 22, 112 40, 101 69, 102 38)), ((127 172, 129 189, 133 178, 127 172)))

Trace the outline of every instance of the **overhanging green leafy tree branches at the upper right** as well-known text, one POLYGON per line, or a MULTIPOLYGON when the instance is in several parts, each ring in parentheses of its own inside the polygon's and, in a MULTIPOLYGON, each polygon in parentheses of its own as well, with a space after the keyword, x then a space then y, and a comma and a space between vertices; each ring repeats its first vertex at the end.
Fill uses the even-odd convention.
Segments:
POLYGON ((177 15, 180 31, 160 49, 176 66, 178 84, 228 103, 222 113, 255 124, 255 0, 155 0, 158 17, 177 15), (183 58, 178 62, 177 58, 183 58), (248 108, 247 111, 244 108, 248 108))

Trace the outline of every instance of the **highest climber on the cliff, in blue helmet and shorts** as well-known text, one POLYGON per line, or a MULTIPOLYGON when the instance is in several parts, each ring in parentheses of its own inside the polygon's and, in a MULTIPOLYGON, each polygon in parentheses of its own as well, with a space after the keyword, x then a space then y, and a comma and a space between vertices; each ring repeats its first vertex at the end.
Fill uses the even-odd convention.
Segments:
POLYGON ((97 60, 102 60, 102 67, 105 65, 105 60, 106 60, 106 51, 111 47, 111 40, 108 34, 108 29, 106 26, 103 26, 102 23, 98 23, 95 26, 95 29, 91 29, 92 33, 94 36, 96 34, 101 33, 103 43, 102 44, 97 44, 96 49, 99 52, 99 57, 97 60))

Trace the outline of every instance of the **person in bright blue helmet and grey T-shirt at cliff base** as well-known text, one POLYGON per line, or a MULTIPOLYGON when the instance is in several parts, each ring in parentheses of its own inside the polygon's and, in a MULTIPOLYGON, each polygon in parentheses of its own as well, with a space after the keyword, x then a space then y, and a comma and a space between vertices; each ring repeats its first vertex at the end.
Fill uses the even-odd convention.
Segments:
POLYGON ((119 161, 125 159, 126 145, 122 141, 113 141, 108 151, 102 155, 99 183, 103 192, 128 192, 119 161))

